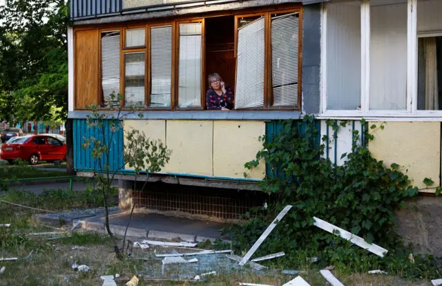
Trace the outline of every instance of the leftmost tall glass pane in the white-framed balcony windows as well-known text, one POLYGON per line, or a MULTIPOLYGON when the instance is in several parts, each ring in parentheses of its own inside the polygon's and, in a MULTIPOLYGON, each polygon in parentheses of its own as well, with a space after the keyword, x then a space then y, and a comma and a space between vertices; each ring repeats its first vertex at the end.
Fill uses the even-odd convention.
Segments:
POLYGON ((327 110, 361 109, 361 4, 327 4, 327 110))

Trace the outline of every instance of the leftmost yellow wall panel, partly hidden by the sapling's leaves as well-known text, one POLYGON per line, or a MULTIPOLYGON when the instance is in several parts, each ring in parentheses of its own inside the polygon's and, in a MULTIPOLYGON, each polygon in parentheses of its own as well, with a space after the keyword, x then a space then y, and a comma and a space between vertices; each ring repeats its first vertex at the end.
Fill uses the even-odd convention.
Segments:
MULTIPOLYGON (((124 120, 124 144, 126 132, 131 129, 144 132, 151 140, 161 140, 166 144, 166 120, 124 120)), ((126 170, 132 169, 126 164, 126 170)))

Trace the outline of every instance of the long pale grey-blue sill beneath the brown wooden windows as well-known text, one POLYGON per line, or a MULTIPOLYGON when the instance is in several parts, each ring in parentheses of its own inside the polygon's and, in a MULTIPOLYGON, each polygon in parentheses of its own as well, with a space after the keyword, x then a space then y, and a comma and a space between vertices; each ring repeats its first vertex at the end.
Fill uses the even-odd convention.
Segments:
MULTIPOLYGON (((106 112, 104 112, 106 113, 106 112)), ((107 112, 108 118, 115 113, 107 112)), ((70 119, 86 119, 90 111, 70 111, 70 119)), ((135 111, 122 112, 127 120, 298 120, 300 111, 135 111), (139 114, 143 117, 140 118, 139 114)))

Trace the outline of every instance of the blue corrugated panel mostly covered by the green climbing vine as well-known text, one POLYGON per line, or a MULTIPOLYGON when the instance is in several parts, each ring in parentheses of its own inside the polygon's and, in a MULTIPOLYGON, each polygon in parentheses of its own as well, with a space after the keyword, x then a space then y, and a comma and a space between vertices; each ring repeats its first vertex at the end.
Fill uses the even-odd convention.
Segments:
MULTIPOLYGON (((266 135, 267 142, 272 142, 273 138, 275 138, 280 133, 282 133, 283 128, 284 128, 284 122, 285 122, 285 120, 273 120, 270 122, 266 122, 265 135, 266 135)), ((305 131, 307 129, 307 122, 305 122, 303 120, 293 120, 292 124, 294 124, 294 126, 297 126, 298 132, 301 135, 305 135, 305 131)), ((320 121, 319 120, 314 120, 314 128, 316 128, 316 131, 317 131, 316 138, 314 139, 314 141, 315 141, 316 146, 318 146, 318 148, 319 148, 319 146, 320 146, 320 121)), ((284 177, 284 174, 280 170, 276 170, 276 173, 272 174, 269 166, 266 166, 266 174, 269 176, 270 175, 276 175, 276 176, 281 175, 282 178, 284 177)))

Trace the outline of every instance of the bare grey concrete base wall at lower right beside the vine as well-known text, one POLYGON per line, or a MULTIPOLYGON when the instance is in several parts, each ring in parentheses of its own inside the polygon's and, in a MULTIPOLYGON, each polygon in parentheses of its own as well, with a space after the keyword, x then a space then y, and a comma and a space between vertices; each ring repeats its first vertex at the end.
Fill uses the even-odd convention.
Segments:
POLYGON ((398 233, 416 253, 442 257, 442 197, 419 197, 397 211, 398 233))

